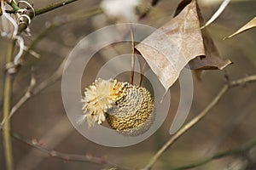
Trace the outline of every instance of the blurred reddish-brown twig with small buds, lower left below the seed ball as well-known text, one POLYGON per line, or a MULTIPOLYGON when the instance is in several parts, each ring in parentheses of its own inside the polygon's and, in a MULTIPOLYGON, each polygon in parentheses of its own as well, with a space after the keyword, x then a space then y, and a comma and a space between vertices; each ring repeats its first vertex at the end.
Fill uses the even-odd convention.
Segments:
POLYGON ((85 161, 85 162, 90 162, 90 163, 95 163, 100 165, 118 167, 119 169, 124 169, 124 170, 128 169, 126 167, 119 167, 113 164, 111 161, 108 161, 106 157, 96 157, 96 156, 91 156, 90 154, 86 154, 86 155, 67 154, 67 153, 56 151, 56 150, 49 150, 48 148, 44 147, 42 143, 38 142, 37 139, 27 139, 24 136, 20 136, 17 133, 13 133, 12 135, 15 139, 18 139, 21 142, 24 142, 26 144, 29 144, 32 147, 44 152, 45 154, 55 158, 59 158, 63 161, 85 161))

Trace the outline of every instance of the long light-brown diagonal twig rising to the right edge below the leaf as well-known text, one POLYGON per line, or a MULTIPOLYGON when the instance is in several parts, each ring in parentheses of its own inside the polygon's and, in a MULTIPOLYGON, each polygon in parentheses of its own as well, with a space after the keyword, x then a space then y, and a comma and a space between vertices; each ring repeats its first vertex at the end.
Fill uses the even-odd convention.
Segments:
POLYGON ((224 87, 220 90, 220 92, 217 94, 217 96, 212 100, 212 102, 207 105, 207 107, 201 111, 198 116, 195 116, 192 120, 190 120, 187 124, 185 124, 182 128, 180 128, 177 133, 175 133, 171 139, 169 139, 166 144, 164 144, 160 150, 157 151, 157 153, 152 157, 150 161, 148 161, 148 164, 143 167, 143 170, 149 170, 153 167, 155 161, 172 145, 179 139, 184 133, 188 132, 188 130, 191 127, 194 127, 197 122, 200 122, 201 119, 207 115, 209 111, 212 110, 212 108, 218 104, 218 101, 224 96, 224 94, 230 89, 235 88, 236 86, 248 83, 248 82, 255 82, 256 81, 256 75, 250 76, 250 77, 243 77, 241 79, 237 79, 235 81, 229 82, 228 84, 225 84, 224 87))

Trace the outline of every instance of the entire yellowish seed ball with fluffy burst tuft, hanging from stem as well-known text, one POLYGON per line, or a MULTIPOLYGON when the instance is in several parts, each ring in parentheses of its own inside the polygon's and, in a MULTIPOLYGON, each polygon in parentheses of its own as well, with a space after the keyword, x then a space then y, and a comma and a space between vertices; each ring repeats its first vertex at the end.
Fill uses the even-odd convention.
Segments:
POLYGON ((110 127, 126 135, 144 133, 154 121, 154 99, 146 88, 117 80, 97 79, 85 89, 84 118, 90 126, 107 119, 110 127))

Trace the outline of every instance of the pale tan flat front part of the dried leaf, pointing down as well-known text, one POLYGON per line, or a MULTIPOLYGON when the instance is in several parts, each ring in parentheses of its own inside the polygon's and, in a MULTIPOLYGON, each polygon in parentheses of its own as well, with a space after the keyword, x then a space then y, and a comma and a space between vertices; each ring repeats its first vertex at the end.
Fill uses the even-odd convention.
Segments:
POLYGON ((205 55, 195 0, 136 48, 166 90, 170 88, 189 60, 205 55))

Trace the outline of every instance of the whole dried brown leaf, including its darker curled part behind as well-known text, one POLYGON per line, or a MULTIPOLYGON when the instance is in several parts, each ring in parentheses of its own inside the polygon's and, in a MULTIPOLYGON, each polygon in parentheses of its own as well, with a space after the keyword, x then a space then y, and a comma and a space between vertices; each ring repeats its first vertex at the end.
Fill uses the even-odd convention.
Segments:
POLYGON ((203 19, 196 0, 179 3, 175 16, 136 46, 166 90, 187 64, 202 70, 223 69, 231 63, 220 58, 207 29, 201 31, 203 19))

